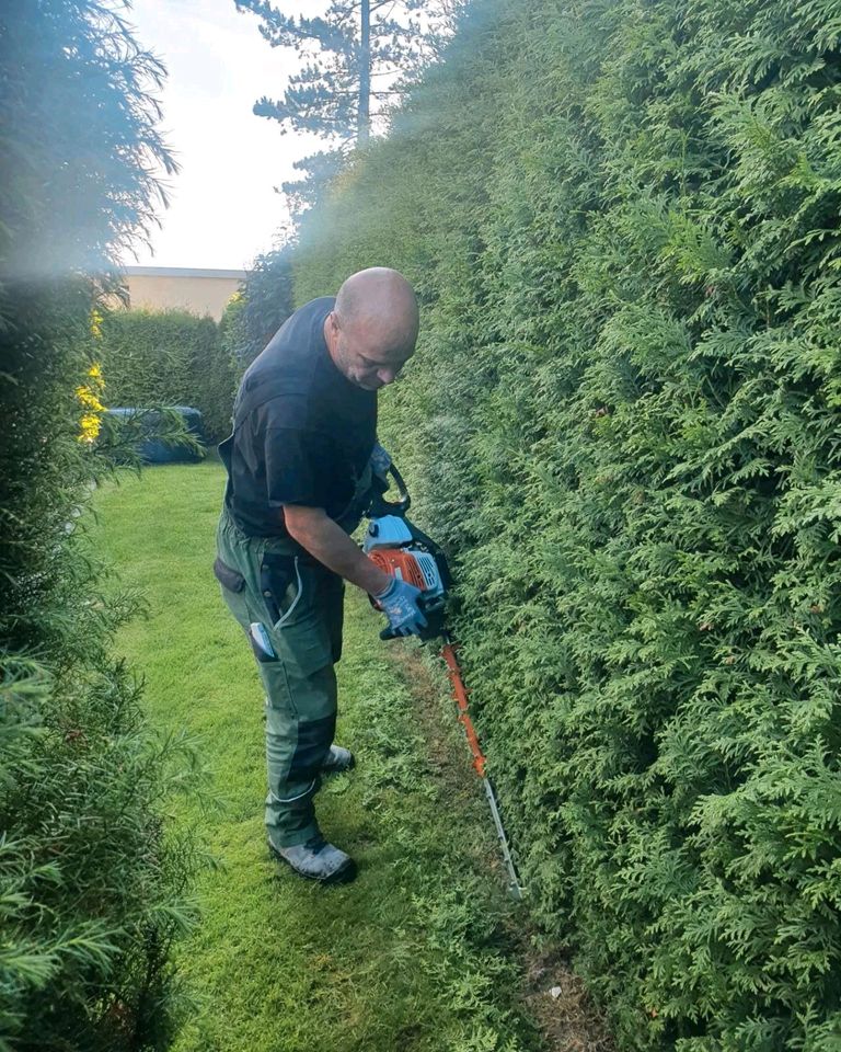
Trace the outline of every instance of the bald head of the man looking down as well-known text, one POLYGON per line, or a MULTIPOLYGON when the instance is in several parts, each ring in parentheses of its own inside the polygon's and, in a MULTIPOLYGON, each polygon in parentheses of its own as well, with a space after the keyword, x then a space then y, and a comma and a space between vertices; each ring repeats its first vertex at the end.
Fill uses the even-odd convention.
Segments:
POLYGON ((398 271, 372 266, 342 285, 324 323, 336 367, 358 387, 377 390, 396 377, 415 350, 415 294, 398 271))

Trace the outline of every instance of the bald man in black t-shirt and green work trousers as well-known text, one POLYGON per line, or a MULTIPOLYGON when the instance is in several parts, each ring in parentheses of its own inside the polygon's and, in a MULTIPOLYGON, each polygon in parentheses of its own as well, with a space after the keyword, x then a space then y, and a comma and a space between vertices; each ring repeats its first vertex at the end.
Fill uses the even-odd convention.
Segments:
POLYGON ((354 757, 333 744, 344 582, 375 596, 400 633, 426 624, 417 588, 378 569, 350 539, 388 469, 377 443, 377 391, 412 356, 415 295, 396 271, 352 275, 335 299, 297 310, 246 370, 214 570, 249 638, 266 693, 274 856, 302 877, 352 880, 353 859, 315 820, 321 776, 354 757))

